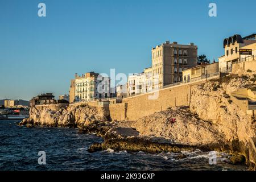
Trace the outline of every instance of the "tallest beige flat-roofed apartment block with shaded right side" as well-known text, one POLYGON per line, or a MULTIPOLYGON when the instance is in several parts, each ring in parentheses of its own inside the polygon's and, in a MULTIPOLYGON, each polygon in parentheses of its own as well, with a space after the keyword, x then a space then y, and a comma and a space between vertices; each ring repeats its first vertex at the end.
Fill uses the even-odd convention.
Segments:
POLYGON ((193 43, 181 45, 166 41, 151 52, 153 89, 182 81, 182 71, 197 65, 197 46, 193 43))

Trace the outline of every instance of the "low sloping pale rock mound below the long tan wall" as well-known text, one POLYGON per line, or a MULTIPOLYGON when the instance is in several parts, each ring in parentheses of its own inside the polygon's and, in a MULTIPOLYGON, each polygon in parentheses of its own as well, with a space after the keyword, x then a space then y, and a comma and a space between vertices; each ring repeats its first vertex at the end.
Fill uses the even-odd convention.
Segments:
POLYGON ((172 143, 205 146, 223 141, 215 125, 191 114, 185 107, 160 111, 131 122, 130 126, 139 131, 142 137, 163 138, 172 143))

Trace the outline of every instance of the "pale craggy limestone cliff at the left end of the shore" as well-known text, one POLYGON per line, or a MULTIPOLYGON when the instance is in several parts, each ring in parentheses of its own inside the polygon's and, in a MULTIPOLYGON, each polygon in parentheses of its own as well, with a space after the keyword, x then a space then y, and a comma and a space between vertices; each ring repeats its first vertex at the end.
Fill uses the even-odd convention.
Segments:
POLYGON ((67 106, 59 111, 53 111, 44 107, 30 109, 30 118, 23 119, 20 125, 50 126, 50 127, 82 127, 89 123, 107 121, 106 110, 95 106, 67 106))

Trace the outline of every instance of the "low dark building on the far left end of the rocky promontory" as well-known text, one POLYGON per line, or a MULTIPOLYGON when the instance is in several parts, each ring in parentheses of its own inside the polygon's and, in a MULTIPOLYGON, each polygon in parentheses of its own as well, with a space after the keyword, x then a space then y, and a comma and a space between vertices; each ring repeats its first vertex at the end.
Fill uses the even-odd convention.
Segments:
POLYGON ((52 93, 43 93, 33 97, 30 100, 30 106, 56 104, 57 101, 54 98, 52 93))

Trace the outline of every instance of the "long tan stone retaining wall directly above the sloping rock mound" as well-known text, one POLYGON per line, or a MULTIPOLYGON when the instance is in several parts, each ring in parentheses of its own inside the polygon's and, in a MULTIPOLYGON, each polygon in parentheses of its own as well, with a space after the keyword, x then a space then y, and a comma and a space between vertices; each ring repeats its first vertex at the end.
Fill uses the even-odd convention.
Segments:
POLYGON ((201 83, 177 85, 154 93, 124 98, 123 103, 127 104, 126 120, 134 121, 172 106, 189 106, 193 86, 201 83))

